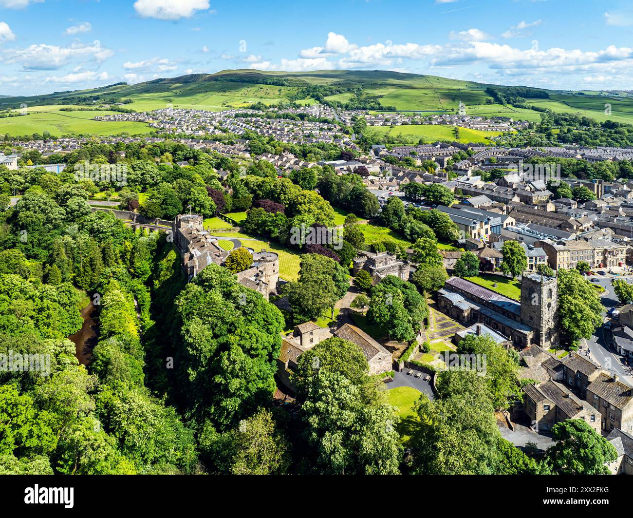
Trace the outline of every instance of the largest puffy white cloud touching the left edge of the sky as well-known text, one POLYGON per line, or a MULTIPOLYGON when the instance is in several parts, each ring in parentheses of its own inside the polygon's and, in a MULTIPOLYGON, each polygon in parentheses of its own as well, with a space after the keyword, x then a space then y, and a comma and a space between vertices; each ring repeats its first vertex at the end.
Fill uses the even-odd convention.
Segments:
POLYGON ((113 51, 104 49, 100 44, 88 46, 80 43, 68 47, 33 44, 23 49, 10 49, 4 52, 6 63, 18 63, 25 70, 58 70, 72 60, 104 61, 113 56, 113 51))

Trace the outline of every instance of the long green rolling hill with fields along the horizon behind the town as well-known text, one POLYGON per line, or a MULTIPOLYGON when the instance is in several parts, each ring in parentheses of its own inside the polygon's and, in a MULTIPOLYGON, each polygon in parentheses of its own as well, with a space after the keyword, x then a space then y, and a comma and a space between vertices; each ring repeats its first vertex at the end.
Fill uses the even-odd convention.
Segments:
MULTIPOLYGON (((111 132, 147 132, 143 123, 103 123, 91 120, 104 110, 104 104, 125 103, 136 111, 174 108, 227 110, 251 103, 272 105, 282 100, 300 104, 319 101, 350 103, 361 101, 396 110, 428 112, 456 111, 459 103, 467 113, 486 117, 503 116, 539 121, 539 111, 527 106, 549 108, 560 113, 585 115, 595 120, 607 119, 633 123, 633 96, 625 91, 553 91, 530 89, 534 98, 525 98, 524 108, 499 104, 487 89, 511 92, 516 87, 446 79, 432 75, 381 70, 319 70, 316 72, 260 72, 258 70, 223 70, 213 74, 192 74, 155 79, 139 84, 118 83, 79 91, 54 92, 41 96, 0 97, 0 110, 15 110, 26 104, 27 117, 0 118, 0 133, 13 135, 51 131, 61 133, 110 134, 111 132), (540 97, 538 95, 541 95, 540 97), (610 113, 607 109, 610 105, 610 113), (61 108, 85 108, 92 111, 66 111, 61 108), (118 131, 116 131, 118 129, 118 131)), ((510 93, 511 94, 511 93, 510 93)))

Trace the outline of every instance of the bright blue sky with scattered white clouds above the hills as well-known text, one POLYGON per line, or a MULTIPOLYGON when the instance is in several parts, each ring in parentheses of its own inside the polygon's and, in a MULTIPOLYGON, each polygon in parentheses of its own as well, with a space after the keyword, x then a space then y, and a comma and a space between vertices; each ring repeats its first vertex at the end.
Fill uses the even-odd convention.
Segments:
POLYGON ((0 0, 0 94, 227 68, 633 89, 632 29, 619 0, 0 0))

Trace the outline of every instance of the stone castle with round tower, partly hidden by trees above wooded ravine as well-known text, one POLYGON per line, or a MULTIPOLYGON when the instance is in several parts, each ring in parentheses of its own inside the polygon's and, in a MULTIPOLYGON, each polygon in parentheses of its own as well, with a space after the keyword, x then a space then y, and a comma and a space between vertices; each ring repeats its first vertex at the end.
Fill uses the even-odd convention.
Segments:
MULTIPOLYGON (((191 281, 210 264, 222 265, 229 256, 229 251, 218 246, 218 239, 204 230, 203 217, 197 214, 183 214, 173 222, 173 243, 182 258, 182 267, 191 281)), ((279 282, 279 256, 270 251, 256 252, 247 250, 253 255, 253 264, 247 270, 237 274, 240 284, 261 293, 266 300, 270 294, 277 293, 279 282)))

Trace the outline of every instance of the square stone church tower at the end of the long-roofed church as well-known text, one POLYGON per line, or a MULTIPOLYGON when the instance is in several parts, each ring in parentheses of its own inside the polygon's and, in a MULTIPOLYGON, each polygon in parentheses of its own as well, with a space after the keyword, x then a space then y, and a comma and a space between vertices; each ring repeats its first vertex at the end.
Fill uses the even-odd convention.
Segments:
POLYGON ((523 275, 521 321, 534 329, 532 343, 550 349, 558 343, 558 284, 556 277, 523 275))

